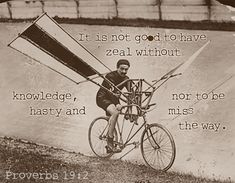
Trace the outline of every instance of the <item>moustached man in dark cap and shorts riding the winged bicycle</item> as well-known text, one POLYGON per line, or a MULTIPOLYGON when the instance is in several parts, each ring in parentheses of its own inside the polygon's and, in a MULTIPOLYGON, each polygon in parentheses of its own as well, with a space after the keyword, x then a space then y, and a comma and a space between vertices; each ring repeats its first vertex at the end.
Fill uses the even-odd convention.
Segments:
MULTIPOLYGON (((130 67, 130 63, 128 60, 120 59, 117 62, 117 70, 108 73, 105 76, 105 78, 107 78, 107 80, 111 81, 115 86, 117 86, 118 84, 120 84, 124 80, 129 79, 129 77, 126 76, 129 67, 130 67)), ((110 84, 106 80, 103 81, 102 86, 111 90, 112 93, 117 92, 115 89, 113 90, 113 87, 111 87, 110 84)), ((122 90, 124 87, 128 90, 127 83, 120 86, 119 89, 122 90)), ((105 110, 106 114, 108 114, 110 116, 108 137, 107 137, 107 146, 106 146, 107 153, 120 152, 120 149, 117 149, 116 147, 114 147, 113 133, 114 133, 117 119, 118 119, 119 111, 122 106, 120 105, 118 95, 115 95, 112 93, 108 92, 107 90, 105 90, 104 88, 101 87, 96 95, 97 105, 100 108, 102 108, 103 110, 105 110)))

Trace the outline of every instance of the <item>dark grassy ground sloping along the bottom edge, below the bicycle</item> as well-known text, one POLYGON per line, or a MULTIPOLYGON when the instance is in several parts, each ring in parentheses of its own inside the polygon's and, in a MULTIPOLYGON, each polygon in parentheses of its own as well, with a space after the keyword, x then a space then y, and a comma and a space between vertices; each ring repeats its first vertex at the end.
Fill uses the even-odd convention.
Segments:
POLYGON ((0 164, 0 181, 6 183, 231 183, 176 172, 156 172, 143 165, 87 157, 12 138, 0 138, 0 164))

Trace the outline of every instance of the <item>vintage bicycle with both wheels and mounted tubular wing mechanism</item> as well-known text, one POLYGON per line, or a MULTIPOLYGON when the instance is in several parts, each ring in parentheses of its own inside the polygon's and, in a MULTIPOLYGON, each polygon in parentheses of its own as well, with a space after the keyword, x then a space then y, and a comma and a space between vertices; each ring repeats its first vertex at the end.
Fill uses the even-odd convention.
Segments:
MULTIPOLYGON (((130 145, 134 146, 133 149, 140 146, 145 163, 151 168, 160 171, 167 171, 173 165, 176 155, 175 142, 166 127, 159 123, 149 124, 146 115, 156 105, 156 103, 151 103, 154 92, 169 78, 174 76, 176 75, 164 76, 154 84, 150 84, 144 79, 129 79, 119 84, 131 83, 131 90, 122 93, 122 96, 126 99, 122 100, 125 101, 126 105, 122 106, 120 110, 119 116, 122 116, 122 120, 118 120, 114 130, 114 145, 121 150, 130 145), (158 87, 155 87, 155 84, 162 80, 164 81, 158 87), (142 121, 141 124, 139 124, 139 121, 142 121), (127 122, 132 123, 132 125, 129 127, 127 138, 124 140, 124 126, 127 126, 127 122), (138 125, 138 128, 133 130, 136 125, 138 125), (140 140, 133 141, 140 131, 142 131, 140 140)), ((118 88, 119 85, 116 87, 118 88)), ((110 158, 114 154, 106 153, 105 148, 107 145, 108 121, 109 116, 98 117, 92 121, 88 131, 90 147, 101 158, 110 158)))

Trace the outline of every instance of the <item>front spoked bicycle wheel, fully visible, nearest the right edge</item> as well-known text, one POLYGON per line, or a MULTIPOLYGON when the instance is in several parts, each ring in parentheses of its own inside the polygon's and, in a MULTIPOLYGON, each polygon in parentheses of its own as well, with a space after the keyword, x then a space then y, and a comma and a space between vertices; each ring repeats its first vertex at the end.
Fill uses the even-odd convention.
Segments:
POLYGON ((141 153, 145 163, 159 171, 167 171, 175 160, 175 142, 162 125, 148 125, 141 136, 141 153))

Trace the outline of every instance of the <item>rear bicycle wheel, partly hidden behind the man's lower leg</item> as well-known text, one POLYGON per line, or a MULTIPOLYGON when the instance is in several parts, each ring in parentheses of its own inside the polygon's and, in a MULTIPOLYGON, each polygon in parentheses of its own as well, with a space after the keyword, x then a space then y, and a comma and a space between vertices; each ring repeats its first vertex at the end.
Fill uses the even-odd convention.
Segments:
MULTIPOLYGON (((107 145, 108 134, 108 117, 99 117, 92 121, 89 131, 88 140, 92 151, 101 158, 109 158, 113 153, 107 153, 105 146, 107 145)), ((114 129, 114 141, 118 141, 117 131, 114 129)))

